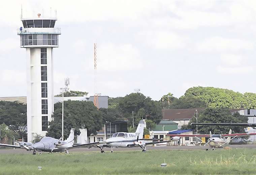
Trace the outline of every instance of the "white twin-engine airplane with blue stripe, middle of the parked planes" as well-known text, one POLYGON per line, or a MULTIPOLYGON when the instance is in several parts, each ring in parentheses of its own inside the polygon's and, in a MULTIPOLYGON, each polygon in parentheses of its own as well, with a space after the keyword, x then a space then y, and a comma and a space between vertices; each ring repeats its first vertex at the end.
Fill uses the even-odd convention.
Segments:
MULTIPOLYGON (((80 144, 78 146, 79 147, 81 147, 81 146, 87 147, 89 144, 91 144, 91 146, 89 146, 89 148, 98 147, 98 148, 100 148, 101 153, 105 152, 103 150, 104 147, 111 148, 111 152, 113 152, 113 148, 118 148, 118 147, 140 147, 142 149, 142 151, 144 152, 144 151, 146 151, 147 145, 172 141, 172 140, 157 141, 159 139, 143 139, 142 138, 143 130, 145 127, 146 127, 145 120, 140 120, 135 133, 119 132, 119 133, 113 134, 113 136, 111 138, 106 139, 105 141, 101 141, 98 143, 97 142, 87 143, 87 144, 84 144, 84 146, 82 146, 82 144, 80 144), (154 140, 155 140, 155 142, 153 142, 154 140)), ((74 147, 75 147, 75 145, 74 145, 74 147)))

